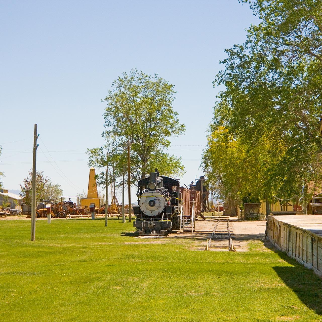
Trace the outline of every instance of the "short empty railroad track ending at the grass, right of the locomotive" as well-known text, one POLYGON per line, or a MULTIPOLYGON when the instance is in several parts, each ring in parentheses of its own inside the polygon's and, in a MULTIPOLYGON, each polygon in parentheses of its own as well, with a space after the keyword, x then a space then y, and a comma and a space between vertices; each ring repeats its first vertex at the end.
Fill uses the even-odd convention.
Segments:
POLYGON ((229 219, 220 219, 216 223, 210 239, 207 241, 205 250, 218 249, 218 250, 228 250, 237 251, 236 246, 232 241, 233 232, 229 227, 229 219))

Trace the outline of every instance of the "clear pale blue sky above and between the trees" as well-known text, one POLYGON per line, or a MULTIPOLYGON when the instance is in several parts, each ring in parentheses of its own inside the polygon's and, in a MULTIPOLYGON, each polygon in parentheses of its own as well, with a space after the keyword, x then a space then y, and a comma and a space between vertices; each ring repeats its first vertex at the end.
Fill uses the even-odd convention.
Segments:
POLYGON ((198 168, 220 90, 212 84, 223 67, 219 60, 225 48, 245 41, 245 28, 256 22, 237 0, 2 1, 4 187, 19 189, 31 169, 37 123, 37 170, 61 184, 64 195, 86 190, 86 148, 103 144, 100 100, 131 68, 175 85, 174 109, 186 133, 171 139, 169 153, 182 156, 186 174, 180 181, 188 185, 203 175, 198 168))

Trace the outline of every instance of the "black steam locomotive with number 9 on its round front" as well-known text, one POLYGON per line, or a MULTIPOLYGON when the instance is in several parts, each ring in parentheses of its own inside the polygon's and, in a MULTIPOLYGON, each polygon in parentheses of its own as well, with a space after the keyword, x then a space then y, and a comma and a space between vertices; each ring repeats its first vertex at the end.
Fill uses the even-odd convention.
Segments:
POLYGON ((166 235, 179 225, 179 181, 159 175, 158 170, 138 182, 138 205, 133 207, 133 226, 142 235, 166 235))

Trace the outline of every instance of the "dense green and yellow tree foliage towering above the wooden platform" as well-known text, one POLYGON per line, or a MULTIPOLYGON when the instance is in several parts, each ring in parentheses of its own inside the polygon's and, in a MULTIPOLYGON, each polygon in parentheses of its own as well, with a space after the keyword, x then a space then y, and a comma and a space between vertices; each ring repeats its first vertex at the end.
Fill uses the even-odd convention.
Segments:
POLYGON ((203 164, 209 174, 220 171, 211 165, 212 145, 223 140, 213 134, 224 127, 235 153, 226 151, 228 159, 215 165, 238 169, 235 185, 222 182, 224 191, 287 198, 321 179, 322 3, 256 0, 251 8, 260 23, 251 25, 245 43, 225 51, 225 68, 214 81, 225 90, 214 108, 203 164))

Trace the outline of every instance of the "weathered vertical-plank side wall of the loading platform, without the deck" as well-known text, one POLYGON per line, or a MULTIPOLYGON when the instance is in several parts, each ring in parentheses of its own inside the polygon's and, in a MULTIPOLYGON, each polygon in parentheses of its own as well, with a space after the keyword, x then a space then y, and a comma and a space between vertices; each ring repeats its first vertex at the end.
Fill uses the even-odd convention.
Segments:
POLYGON ((270 215, 267 218, 266 239, 289 257, 322 276, 321 236, 270 215))

